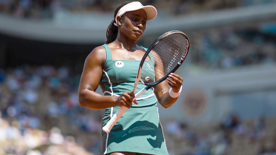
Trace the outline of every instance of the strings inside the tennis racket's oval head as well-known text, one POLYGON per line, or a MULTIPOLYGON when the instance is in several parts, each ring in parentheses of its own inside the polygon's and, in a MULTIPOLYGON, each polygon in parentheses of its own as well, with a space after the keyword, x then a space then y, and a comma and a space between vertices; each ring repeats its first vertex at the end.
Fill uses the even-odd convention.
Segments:
POLYGON ((177 65, 185 54, 187 42, 182 34, 175 33, 160 40, 150 51, 150 61, 145 61, 141 79, 145 84, 157 82, 177 65))

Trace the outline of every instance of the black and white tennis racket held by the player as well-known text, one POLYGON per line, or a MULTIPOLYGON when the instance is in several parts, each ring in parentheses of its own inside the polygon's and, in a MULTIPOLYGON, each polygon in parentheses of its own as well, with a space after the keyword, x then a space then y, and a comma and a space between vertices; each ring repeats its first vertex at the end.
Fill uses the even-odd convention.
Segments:
MULTIPOLYGON (((170 73, 174 73, 186 58, 189 46, 188 37, 181 31, 166 32, 155 40, 140 62, 132 91, 135 93, 139 81, 146 85, 146 88, 136 93, 133 100, 164 81, 170 73)), ((103 127, 103 131, 109 133, 127 109, 121 106, 103 127)))

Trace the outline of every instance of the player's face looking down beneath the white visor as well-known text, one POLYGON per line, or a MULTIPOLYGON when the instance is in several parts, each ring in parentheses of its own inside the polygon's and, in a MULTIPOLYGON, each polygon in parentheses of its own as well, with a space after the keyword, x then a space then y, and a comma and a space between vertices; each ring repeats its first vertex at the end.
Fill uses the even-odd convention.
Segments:
POLYGON ((146 30, 147 14, 143 9, 125 13, 125 18, 117 18, 120 34, 128 39, 137 41, 146 30))

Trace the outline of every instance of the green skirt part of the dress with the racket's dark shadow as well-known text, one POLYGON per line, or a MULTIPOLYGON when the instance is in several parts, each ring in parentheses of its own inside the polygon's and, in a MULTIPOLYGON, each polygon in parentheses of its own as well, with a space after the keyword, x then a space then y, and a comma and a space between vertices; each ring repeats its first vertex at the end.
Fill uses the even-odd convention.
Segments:
MULTIPOLYGON (((105 109, 103 126, 119 108, 105 109)), ((109 134, 102 130, 102 150, 103 154, 112 152, 168 154, 157 103, 144 107, 131 107, 126 110, 109 134)))

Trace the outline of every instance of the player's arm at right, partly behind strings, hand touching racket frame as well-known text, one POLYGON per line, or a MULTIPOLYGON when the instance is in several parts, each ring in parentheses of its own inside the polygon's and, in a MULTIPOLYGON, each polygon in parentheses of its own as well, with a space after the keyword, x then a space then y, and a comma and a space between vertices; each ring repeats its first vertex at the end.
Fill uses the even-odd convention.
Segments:
MULTIPOLYGON (((154 70, 155 70, 155 73, 158 73, 158 74, 155 74, 155 79, 160 79, 160 78, 164 77, 163 63, 157 53, 153 52, 153 56, 154 56, 154 60, 155 60, 154 70)), ((169 75, 169 77, 173 79, 172 76, 178 76, 178 75, 176 75, 176 74, 169 75)), ((181 78, 180 76, 178 76, 178 77, 181 78)), ((182 78, 180 79, 180 81, 181 81, 181 84, 180 84, 180 86, 181 86, 182 78)), ((173 81, 170 81, 170 82, 173 82, 173 81)), ((178 83, 180 83, 180 82, 178 81, 178 83)), ((178 92, 180 89, 180 86, 179 87, 177 86, 178 87, 177 88, 174 85, 169 84, 167 81, 163 81, 154 86, 154 94, 155 94, 158 102, 164 108, 168 108, 168 107, 172 106, 178 98, 178 97, 173 98, 169 95, 169 85, 172 87, 174 92, 178 92)))

